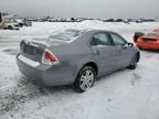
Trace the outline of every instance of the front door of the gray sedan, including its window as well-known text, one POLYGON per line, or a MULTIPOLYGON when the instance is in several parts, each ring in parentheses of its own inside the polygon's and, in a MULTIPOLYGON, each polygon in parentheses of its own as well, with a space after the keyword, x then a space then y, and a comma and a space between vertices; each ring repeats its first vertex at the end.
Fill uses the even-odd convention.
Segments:
POLYGON ((117 68, 123 68, 129 65, 132 58, 132 47, 126 46, 128 42, 116 33, 109 33, 114 41, 115 48, 117 51, 117 68))

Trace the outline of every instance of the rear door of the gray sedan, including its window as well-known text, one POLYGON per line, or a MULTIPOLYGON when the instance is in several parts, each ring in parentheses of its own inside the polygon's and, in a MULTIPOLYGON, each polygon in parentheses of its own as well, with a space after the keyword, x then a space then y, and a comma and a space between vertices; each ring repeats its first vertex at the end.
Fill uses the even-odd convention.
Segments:
POLYGON ((109 35, 105 32, 94 34, 91 45, 93 57, 98 65, 99 75, 114 71, 117 63, 117 52, 109 35))

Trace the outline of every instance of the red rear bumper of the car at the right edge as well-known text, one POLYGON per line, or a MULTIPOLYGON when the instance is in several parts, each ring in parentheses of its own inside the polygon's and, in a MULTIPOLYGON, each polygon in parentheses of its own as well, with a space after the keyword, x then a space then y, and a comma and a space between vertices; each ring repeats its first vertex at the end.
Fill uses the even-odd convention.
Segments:
POLYGON ((141 48, 148 48, 148 50, 159 50, 159 43, 147 43, 147 42, 137 42, 137 46, 141 48))

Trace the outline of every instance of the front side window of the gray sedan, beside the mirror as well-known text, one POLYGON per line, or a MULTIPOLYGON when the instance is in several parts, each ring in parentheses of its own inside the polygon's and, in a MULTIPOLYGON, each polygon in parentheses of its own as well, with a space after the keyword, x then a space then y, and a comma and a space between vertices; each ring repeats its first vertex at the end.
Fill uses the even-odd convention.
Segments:
POLYGON ((125 45, 127 42, 119 35, 112 33, 110 34, 115 45, 125 45))

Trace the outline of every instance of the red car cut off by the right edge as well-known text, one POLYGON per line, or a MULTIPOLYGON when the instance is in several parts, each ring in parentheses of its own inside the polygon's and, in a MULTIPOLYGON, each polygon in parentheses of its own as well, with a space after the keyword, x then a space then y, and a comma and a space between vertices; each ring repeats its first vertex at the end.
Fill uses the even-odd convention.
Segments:
POLYGON ((148 33, 142 36, 138 36, 134 41, 139 48, 147 48, 147 50, 159 50, 159 32, 148 33))

